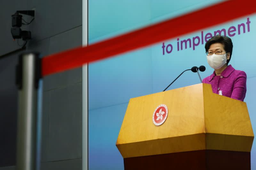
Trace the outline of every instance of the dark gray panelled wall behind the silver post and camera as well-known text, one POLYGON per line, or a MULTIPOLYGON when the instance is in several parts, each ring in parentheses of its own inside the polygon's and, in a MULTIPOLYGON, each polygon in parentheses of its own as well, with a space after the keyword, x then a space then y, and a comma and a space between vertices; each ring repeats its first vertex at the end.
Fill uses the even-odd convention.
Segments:
MULTIPOLYGON (((35 10, 35 20, 21 27, 31 31, 33 38, 26 50, 45 56, 82 45, 82 0, 4 0, 0 7, 0 55, 20 48, 10 32, 11 15, 17 10, 35 10)), ((32 19, 24 15, 23 18, 32 19)), ((19 43, 22 44, 22 40, 19 43)), ((0 137, 5 139, 1 140, 0 151, 12 151, 0 152, 0 170, 12 170, 15 166, 17 90, 14 68, 18 55, 0 60, 0 109, 4 107, 0 112, 0 137)), ((43 84, 41 169, 80 170, 82 68, 46 76, 43 84)))

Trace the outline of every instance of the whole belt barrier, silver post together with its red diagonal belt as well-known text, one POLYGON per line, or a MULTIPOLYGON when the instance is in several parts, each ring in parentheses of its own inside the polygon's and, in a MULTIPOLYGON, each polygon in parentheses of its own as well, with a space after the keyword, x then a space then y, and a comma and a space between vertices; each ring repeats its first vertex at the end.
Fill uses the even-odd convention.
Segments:
POLYGON ((254 0, 224 1, 87 47, 52 54, 42 59, 39 59, 39 55, 36 53, 20 55, 16 76, 19 89, 16 168, 18 170, 36 169, 36 89, 40 78, 225 23, 255 12, 254 0), (221 10, 216 11, 216 9, 221 10))

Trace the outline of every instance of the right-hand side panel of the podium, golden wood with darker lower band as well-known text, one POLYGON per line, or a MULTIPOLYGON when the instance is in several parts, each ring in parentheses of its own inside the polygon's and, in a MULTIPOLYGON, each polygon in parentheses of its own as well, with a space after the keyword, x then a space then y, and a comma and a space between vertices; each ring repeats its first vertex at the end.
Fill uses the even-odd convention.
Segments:
POLYGON ((206 149, 250 152, 254 135, 246 103, 203 86, 206 149))

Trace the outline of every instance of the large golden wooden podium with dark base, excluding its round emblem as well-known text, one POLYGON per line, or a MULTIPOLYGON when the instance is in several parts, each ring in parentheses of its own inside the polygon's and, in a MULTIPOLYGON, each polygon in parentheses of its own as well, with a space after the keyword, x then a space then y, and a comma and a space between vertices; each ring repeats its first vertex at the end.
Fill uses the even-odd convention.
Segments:
POLYGON ((132 98, 116 146, 124 169, 251 169, 253 131, 246 103, 210 84, 132 98), (166 105, 162 125, 153 113, 166 105))

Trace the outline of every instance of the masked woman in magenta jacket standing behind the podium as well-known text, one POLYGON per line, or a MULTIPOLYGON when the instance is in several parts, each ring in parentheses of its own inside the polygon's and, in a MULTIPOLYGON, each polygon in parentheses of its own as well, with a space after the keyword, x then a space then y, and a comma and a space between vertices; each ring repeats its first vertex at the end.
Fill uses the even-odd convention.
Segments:
POLYGON ((211 84, 213 93, 244 101, 246 74, 228 65, 232 50, 232 40, 227 36, 216 35, 205 43, 207 62, 214 71, 203 83, 211 84))

